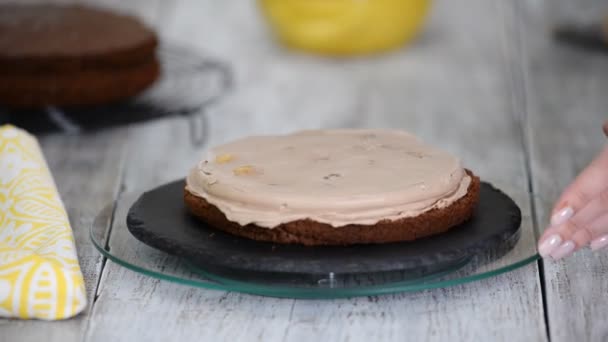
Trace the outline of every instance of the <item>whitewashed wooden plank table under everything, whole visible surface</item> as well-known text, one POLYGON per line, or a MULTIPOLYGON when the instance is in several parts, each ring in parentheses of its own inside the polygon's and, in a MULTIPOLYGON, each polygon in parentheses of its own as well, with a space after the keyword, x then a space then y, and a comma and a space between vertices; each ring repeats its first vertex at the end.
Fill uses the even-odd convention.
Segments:
POLYGON ((604 143, 608 117, 608 57, 552 42, 556 1, 438 0, 415 45, 349 61, 281 49, 255 1, 105 2, 227 61, 235 87, 208 112, 203 146, 191 144, 182 119, 41 138, 90 305, 62 322, 0 320, 0 341, 608 340, 606 252, 451 288, 316 301, 152 279, 104 260, 88 237, 105 204, 184 176, 211 145, 304 128, 397 127, 523 194, 522 253, 531 255, 552 200, 604 143))

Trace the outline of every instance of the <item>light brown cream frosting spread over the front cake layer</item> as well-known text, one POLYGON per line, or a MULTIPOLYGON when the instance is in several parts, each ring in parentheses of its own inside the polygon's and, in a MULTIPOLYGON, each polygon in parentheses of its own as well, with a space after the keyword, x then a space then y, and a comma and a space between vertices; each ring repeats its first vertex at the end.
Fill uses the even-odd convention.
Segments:
POLYGON ((470 182, 457 158, 408 133, 316 130, 218 146, 186 189, 243 226, 311 219, 340 227, 446 207, 470 182))

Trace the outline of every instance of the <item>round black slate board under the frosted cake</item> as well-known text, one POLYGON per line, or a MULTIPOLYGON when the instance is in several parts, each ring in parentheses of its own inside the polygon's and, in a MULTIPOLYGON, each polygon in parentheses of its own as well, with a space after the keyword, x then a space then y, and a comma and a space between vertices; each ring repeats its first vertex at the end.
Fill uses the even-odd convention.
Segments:
POLYGON ((215 230, 188 213, 183 188, 180 180, 144 193, 129 210, 129 231, 205 273, 235 280, 311 284, 328 274, 337 279, 372 274, 393 281, 417 279, 462 266, 480 253, 508 250, 519 239, 519 208, 488 183, 481 185, 473 218, 445 234, 413 242, 324 247, 258 242, 215 230))

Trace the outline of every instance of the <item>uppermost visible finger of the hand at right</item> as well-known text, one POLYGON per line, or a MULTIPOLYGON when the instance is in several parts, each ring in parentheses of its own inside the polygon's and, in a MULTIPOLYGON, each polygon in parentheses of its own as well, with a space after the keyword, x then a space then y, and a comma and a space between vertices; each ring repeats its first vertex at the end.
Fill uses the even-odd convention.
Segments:
POLYGON ((608 184, 608 147, 566 188, 551 215, 551 225, 570 219, 608 184))

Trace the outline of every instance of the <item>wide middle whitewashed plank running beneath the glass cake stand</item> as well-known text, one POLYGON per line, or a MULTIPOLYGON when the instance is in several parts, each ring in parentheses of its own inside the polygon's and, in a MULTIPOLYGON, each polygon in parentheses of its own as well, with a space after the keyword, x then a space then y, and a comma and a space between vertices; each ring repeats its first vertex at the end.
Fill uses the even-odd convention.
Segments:
MULTIPOLYGON (((255 2, 182 1, 166 34, 230 61, 235 91, 208 115, 207 145, 168 120, 134 128, 125 183, 141 191, 183 177, 208 146, 250 134, 305 128, 394 127, 463 158, 516 198, 522 243, 534 252, 525 156, 512 77, 514 10, 502 1, 438 1, 423 37, 374 59, 329 60, 268 39, 255 2), (508 7, 508 6, 507 6, 508 7)), ((121 206, 120 210, 126 210, 121 206)), ((121 223, 117 223, 121 224, 121 223)), ((170 261, 145 246, 124 250, 170 261)), ((108 262, 87 341, 534 340, 546 339, 535 265, 453 288, 351 300, 262 298, 189 288, 108 262)))

